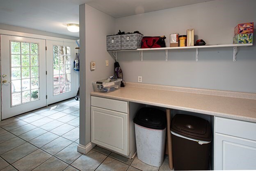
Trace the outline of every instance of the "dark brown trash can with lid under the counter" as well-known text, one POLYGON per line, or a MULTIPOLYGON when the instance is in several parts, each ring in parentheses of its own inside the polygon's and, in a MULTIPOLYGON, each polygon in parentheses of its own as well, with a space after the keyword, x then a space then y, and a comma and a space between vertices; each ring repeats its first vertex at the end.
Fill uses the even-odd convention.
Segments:
POLYGON ((174 170, 209 170, 212 131, 210 123, 187 114, 171 121, 174 170))

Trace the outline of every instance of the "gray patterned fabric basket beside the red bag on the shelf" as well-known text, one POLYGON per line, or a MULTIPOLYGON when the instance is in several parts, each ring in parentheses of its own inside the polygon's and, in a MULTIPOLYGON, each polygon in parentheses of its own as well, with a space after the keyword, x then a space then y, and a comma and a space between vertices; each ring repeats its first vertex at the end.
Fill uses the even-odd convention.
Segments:
POLYGON ((141 48, 143 34, 132 33, 121 35, 121 49, 139 49, 141 48))

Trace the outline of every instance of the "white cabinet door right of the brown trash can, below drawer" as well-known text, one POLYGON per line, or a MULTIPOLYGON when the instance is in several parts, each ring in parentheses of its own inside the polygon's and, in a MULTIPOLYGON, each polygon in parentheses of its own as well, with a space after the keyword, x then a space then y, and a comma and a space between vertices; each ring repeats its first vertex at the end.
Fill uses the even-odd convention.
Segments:
POLYGON ((215 133, 215 170, 256 169, 256 141, 215 133))

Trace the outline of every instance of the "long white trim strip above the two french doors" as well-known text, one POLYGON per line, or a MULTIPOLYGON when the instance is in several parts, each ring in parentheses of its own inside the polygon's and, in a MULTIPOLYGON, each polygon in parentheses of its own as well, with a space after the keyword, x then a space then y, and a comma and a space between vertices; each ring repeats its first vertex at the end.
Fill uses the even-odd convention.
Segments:
POLYGON ((0 29, 0 34, 9 35, 9 36, 28 37, 28 38, 34 38, 34 39, 44 39, 44 40, 53 40, 53 41, 66 41, 66 42, 71 42, 71 43, 73 43, 75 41, 75 40, 72 40, 72 39, 63 39, 63 38, 52 37, 52 36, 43 36, 43 35, 39 35, 39 34, 15 32, 15 31, 2 30, 2 29, 0 29))

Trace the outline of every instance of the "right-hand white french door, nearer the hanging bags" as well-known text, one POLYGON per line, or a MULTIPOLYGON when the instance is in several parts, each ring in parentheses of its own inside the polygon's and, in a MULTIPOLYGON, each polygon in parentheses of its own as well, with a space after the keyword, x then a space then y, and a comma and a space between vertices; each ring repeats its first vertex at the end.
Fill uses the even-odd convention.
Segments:
POLYGON ((46 40, 47 104, 76 96, 79 72, 74 71, 75 41, 46 40))

